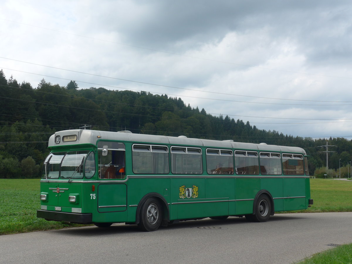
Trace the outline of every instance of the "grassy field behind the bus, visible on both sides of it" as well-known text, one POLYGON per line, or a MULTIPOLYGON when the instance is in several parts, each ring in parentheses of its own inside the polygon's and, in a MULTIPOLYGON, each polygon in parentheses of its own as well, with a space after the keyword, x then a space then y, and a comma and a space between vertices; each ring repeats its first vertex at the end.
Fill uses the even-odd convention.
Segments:
MULTIPOLYGON (((352 182, 310 179, 314 205, 294 212, 352 212, 352 182)), ((0 179, 0 235, 80 226, 36 217, 39 179, 0 179)))

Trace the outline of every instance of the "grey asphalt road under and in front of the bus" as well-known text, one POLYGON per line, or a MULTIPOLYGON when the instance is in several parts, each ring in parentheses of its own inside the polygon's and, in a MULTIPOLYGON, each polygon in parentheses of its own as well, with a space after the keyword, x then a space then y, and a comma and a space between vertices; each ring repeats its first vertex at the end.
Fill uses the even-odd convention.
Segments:
POLYGON ((297 213, 265 223, 184 221, 155 232, 115 224, 2 235, 0 263, 295 263, 352 243, 351 222, 352 213, 297 213))

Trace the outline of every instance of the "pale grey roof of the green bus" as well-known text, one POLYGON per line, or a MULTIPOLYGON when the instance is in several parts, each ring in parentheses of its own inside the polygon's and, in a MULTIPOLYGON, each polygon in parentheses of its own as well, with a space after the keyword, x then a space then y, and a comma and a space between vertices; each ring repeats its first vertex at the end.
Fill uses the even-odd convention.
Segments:
POLYGON ((63 130, 58 131, 49 138, 48 147, 76 145, 76 144, 92 144, 96 145, 98 140, 116 140, 129 141, 144 144, 172 144, 186 146, 206 146, 212 148, 227 148, 239 150, 259 150, 259 151, 278 151, 278 152, 295 152, 306 155, 300 147, 288 147, 267 145, 265 143, 243 143, 233 142, 233 140, 212 140, 212 139, 197 139, 187 138, 185 136, 169 137, 159 135, 134 134, 130 131, 109 132, 98 130, 63 130))

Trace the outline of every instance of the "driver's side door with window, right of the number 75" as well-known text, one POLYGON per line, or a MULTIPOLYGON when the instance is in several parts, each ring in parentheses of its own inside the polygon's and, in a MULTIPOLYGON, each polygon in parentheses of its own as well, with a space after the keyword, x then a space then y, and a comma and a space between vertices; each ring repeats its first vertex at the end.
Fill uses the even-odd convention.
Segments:
POLYGON ((98 143, 98 212, 122 212, 127 209, 127 185, 118 181, 126 178, 125 144, 98 143))

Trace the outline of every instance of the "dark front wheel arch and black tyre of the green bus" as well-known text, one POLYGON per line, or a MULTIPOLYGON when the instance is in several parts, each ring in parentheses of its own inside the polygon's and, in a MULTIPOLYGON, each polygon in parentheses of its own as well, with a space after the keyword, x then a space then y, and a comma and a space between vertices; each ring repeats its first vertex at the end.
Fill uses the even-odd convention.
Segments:
POLYGON ((144 230, 144 231, 155 231, 157 228, 162 225, 162 226, 167 226, 167 223, 169 222, 169 206, 168 202, 165 200, 165 198, 158 194, 158 193, 150 193, 146 194, 143 196, 143 198, 139 201, 138 206, 137 206, 137 211, 136 211, 136 224, 144 230), (158 208, 159 207, 159 208, 158 208), (159 216, 159 223, 156 223, 156 228, 153 225, 149 225, 148 221, 146 221, 145 216, 146 216, 146 211, 150 209, 157 209, 159 210, 158 216, 159 216), (143 219, 144 215, 144 219, 143 219))

